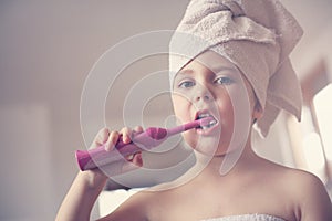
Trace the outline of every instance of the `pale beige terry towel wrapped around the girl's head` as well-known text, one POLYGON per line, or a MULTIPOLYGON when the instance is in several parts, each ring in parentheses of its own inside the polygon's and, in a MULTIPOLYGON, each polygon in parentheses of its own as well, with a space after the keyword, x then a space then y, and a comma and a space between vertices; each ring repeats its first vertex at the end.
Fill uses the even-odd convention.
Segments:
POLYGON ((250 82, 263 108, 257 128, 267 136, 280 109, 300 120, 301 88, 289 54, 302 34, 278 0, 193 0, 169 44, 170 85, 204 51, 219 53, 250 82))

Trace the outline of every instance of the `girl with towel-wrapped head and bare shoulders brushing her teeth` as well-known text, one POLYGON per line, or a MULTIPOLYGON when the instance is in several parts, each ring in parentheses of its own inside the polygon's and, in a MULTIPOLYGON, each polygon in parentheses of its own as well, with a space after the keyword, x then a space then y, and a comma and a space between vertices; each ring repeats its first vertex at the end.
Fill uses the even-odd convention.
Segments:
MULTIPOLYGON (((332 220, 317 177, 251 148, 253 125, 267 135, 280 109, 300 116, 300 87, 288 59, 301 35, 294 19, 274 0, 194 0, 177 32, 195 38, 181 42, 175 34, 170 43, 174 112, 181 122, 214 118, 183 134, 197 158, 184 177, 204 169, 181 186, 138 192, 101 220, 332 220)), ((142 130, 102 129, 93 146, 106 143, 110 150, 120 135, 129 143, 142 130)), ((141 154, 127 160, 122 171, 143 166, 141 154)), ((116 166, 107 167, 102 169, 116 166)), ((100 169, 80 171, 58 220, 89 220, 106 180, 100 169)))

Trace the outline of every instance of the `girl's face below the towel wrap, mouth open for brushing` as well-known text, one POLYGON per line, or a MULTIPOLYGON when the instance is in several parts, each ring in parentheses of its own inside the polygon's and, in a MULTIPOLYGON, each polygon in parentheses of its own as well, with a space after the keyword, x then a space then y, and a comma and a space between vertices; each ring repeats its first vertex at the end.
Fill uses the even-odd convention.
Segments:
POLYGON ((248 139, 241 127, 252 125, 253 92, 240 71, 225 57, 212 51, 203 53, 177 73, 173 90, 175 115, 183 123, 206 116, 215 118, 208 127, 184 133, 186 143, 196 150, 225 155, 248 139), (240 141, 231 141, 235 138, 240 141))

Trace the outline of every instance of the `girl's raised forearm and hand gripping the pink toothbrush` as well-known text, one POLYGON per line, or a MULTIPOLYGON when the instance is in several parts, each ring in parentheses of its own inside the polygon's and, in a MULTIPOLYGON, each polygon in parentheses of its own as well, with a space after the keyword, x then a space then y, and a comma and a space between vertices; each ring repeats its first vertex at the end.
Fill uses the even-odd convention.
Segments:
MULTIPOLYGON (((143 129, 137 127, 136 130, 139 133, 143 129)), ((131 141, 131 129, 124 128, 121 134, 123 134, 124 143, 131 141)), ((106 150, 112 150, 118 136, 120 133, 117 131, 110 133, 106 128, 102 129, 94 139, 92 147, 106 144, 106 150)), ((136 154, 127 160, 131 164, 124 160, 124 162, 106 165, 102 169, 107 171, 107 175, 118 175, 143 165, 141 154, 136 154)), ((100 169, 80 171, 59 209, 56 221, 90 220, 91 210, 107 179, 108 177, 100 169)))

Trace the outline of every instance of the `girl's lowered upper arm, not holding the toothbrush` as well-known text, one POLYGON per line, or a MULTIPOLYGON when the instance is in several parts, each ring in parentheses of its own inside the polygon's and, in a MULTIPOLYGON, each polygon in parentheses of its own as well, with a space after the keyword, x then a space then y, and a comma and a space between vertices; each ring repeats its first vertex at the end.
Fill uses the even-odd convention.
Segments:
POLYGON ((332 220, 332 206, 324 185, 313 175, 303 176, 301 179, 300 210, 301 221, 332 220))

